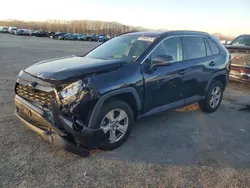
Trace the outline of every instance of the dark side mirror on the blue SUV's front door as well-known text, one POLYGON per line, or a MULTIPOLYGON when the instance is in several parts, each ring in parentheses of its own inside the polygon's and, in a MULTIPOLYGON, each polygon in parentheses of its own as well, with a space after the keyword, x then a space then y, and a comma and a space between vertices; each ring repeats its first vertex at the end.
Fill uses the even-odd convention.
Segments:
POLYGON ((157 55, 152 59, 150 71, 156 70, 160 66, 169 66, 173 61, 173 57, 169 55, 157 55))

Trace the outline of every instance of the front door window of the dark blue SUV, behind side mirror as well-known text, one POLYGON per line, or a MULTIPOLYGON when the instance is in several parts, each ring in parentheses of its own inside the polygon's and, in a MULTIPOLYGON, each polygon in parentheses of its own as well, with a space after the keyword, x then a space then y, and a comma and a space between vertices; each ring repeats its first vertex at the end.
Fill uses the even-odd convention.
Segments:
POLYGON ((183 60, 182 55, 182 42, 180 37, 173 37, 166 39, 162 42, 151 54, 151 60, 156 55, 167 55, 172 59, 171 62, 177 62, 183 60))

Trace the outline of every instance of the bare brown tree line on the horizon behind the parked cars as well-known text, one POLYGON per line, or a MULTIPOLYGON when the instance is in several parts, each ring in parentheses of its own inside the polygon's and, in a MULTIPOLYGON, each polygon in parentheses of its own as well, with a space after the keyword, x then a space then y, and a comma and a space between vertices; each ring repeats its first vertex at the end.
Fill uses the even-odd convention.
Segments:
POLYGON ((51 32, 95 33, 117 35, 130 31, 140 31, 143 28, 123 25, 117 22, 103 22, 92 20, 47 20, 47 21, 0 21, 1 26, 15 26, 21 29, 45 30, 51 32))

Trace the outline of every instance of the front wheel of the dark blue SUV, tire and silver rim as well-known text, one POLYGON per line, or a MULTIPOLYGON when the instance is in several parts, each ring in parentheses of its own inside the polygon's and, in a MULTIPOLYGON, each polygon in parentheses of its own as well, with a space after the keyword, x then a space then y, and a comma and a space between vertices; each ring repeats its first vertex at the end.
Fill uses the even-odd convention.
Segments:
POLYGON ((122 145, 128 138, 134 114, 131 107, 121 100, 109 101, 101 110, 97 126, 101 128, 109 142, 101 146, 101 149, 112 150, 122 145))

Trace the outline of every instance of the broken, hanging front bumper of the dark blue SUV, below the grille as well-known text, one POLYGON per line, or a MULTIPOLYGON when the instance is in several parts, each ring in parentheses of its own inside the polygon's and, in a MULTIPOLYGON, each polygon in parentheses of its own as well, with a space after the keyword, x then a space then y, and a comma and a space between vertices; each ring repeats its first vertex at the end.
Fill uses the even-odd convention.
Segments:
POLYGON ((60 110, 53 106, 53 119, 49 120, 48 112, 29 103, 20 96, 15 96, 16 116, 30 129, 40 134, 46 141, 59 146, 69 152, 81 156, 88 156, 89 149, 94 149, 108 142, 103 130, 89 129, 81 125, 82 129, 74 128, 72 120, 64 117, 60 110))

